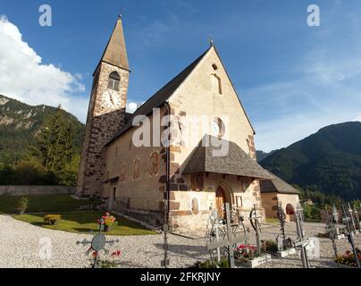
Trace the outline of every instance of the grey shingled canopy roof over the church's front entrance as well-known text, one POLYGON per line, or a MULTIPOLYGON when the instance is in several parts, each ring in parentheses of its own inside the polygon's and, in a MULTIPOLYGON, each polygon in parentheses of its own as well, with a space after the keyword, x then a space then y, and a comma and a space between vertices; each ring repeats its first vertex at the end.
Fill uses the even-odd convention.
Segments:
POLYGON ((213 147, 212 144, 209 147, 196 147, 182 173, 215 172, 259 180, 274 178, 236 143, 222 139, 223 143, 229 144, 229 152, 226 156, 214 156, 214 151, 219 151, 220 147, 213 147))

